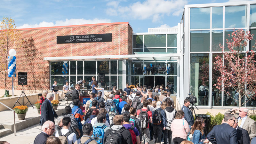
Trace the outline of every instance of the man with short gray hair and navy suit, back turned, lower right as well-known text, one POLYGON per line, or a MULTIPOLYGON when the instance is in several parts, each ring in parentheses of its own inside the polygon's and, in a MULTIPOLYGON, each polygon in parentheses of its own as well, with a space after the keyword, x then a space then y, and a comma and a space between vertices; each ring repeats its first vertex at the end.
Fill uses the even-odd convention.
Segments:
POLYGON ((207 139, 212 144, 237 144, 236 129, 232 126, 235 123, 235 116, 226 114, 224 123, 215 125, 212 131, 208 133, 207 139))

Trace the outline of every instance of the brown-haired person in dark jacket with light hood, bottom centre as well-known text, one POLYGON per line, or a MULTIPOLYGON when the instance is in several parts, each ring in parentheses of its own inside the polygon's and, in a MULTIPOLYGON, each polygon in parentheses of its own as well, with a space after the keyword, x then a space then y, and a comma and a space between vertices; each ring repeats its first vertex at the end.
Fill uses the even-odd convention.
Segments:
POLYGON ((124 118, 122 115, 116 115, 113 119, 114 124, 111 129, 107 130, 104 134, 104 141, 105 143, 107 136, 110 132, 113 130, 118 131, 122 135, 122 144, 132 144, 132 136, 131 133, 123 126, 124 124, 124 118))

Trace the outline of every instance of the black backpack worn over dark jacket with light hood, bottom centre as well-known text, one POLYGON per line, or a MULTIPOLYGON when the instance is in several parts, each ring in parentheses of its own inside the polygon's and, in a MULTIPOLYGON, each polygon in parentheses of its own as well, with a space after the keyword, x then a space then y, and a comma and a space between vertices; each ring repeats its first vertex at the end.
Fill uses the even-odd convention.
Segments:
POLYGON ((106 138, 105 144, 122 144, 122 132, 125 129, 120 129, 119 131, 113 130, 110 132, 106 138))

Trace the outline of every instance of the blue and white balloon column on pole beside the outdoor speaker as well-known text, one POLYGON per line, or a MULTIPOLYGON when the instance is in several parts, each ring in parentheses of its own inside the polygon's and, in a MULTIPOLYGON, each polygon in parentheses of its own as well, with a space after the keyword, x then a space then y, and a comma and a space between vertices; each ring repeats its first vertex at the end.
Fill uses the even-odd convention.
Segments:
POLYGON ((9 51, 10 56, 8 56, 8 77, 16 77, 16 51, 14 49, 11 49, 9 51))

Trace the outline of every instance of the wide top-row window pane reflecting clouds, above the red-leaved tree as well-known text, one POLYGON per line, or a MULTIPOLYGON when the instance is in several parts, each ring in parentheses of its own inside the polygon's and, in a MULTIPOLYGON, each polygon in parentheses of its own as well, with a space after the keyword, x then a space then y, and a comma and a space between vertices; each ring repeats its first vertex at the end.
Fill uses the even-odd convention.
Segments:
POLYGON ((225 7, 225 28, 246 27, 246 5, 225 7))

